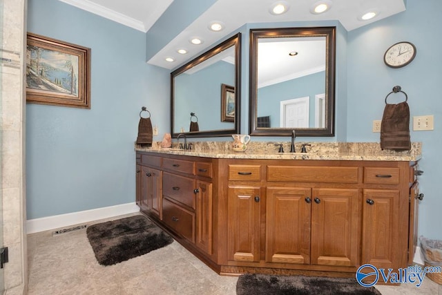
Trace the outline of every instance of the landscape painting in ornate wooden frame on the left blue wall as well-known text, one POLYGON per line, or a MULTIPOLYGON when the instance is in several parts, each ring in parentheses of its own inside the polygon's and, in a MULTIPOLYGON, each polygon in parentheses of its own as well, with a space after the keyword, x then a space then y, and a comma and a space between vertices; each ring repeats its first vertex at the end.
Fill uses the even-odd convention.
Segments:
POLYGON ((26 102, 90 108, 90 48, 28 33, 26 102))

